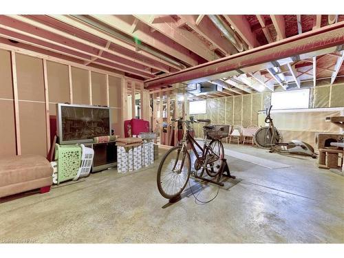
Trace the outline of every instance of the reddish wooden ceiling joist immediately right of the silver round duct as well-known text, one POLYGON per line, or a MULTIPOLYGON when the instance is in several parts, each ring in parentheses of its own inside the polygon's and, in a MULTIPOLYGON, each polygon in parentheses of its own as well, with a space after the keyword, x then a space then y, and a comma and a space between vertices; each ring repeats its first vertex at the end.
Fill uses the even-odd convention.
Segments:
POLYGON ((224 18, 233 26, 234 30, 244 39, 249 48, 259 45, 255 34, 252 33, 250 23, 244 15, 224 15, 224 18))

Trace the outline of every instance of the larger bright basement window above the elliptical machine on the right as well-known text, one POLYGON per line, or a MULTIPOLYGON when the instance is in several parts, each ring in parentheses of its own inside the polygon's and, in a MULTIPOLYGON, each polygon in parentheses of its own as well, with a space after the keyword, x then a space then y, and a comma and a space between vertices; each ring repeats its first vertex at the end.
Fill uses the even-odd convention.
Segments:
POLYGON ((308 109, 310 89, 297 89, 290 92, 272 92, 272 109, 308 109))

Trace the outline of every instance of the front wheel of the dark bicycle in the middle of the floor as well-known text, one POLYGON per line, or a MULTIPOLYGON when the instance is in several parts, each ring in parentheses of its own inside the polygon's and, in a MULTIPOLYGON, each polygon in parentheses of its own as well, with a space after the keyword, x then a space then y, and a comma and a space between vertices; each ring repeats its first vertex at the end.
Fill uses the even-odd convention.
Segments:
POLYGON ((178 197, 184 190, 191 171, 189 152, 182 146, 173 147, 162 158, 157 175, 160 194, 166 199, 178 197))

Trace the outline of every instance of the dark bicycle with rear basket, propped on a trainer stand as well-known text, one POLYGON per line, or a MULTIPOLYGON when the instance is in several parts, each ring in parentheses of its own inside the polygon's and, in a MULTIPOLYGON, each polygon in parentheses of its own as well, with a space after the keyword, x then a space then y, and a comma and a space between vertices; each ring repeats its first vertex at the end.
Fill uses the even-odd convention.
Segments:
POLYGON ((215 177, 221 172, 222 159, 224 158, 224 146, 219 140, 228 136, 229 126, 209 125, 211 120, 193 117, 190 120, 182 118, 172 119, 173 122, 182 122, 183 138, 178 146, 166 152, 162 158, 157 174, 157 184, 160 194, 166 199, 173 200, 180 196, 191 174, 191 157, 188 149, 192 149, 196 160, 195 173, 203 169, 210 177, 215 177), (203 147, 191 136, 191 125, 194 122, 205 122, 203 147), (210 142, 209 142, 210 140, 210 142), (209 143, 208 143, 209 142, 209 143), (202 152, 198 152, 196 147, 202 152))

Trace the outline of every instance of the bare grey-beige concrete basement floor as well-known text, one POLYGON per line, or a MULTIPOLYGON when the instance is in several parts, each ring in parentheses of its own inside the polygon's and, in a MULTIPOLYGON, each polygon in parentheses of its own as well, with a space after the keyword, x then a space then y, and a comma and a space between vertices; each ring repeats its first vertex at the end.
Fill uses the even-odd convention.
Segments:
MULTIPOLYGON (((267 169, 228 158, 228 180, 208 204, 195 202, 189 186, 168 205, 156 186, 159 162, 118 174, 108 170, 50 193, 5 198, 0 242, 38 243, 343 243, 344 178, 301 156, 230 144, 230 149, 292 164, 267 169), (167 205, 166 205, 167 204, 167 205)), ((163 151, 162 151, 163 152, 163 151)), ((161 155, 160 155, 161 157, 161 155)), ((191 180, 199 199, 213 184, 191 180)))

